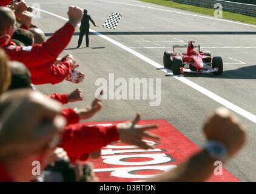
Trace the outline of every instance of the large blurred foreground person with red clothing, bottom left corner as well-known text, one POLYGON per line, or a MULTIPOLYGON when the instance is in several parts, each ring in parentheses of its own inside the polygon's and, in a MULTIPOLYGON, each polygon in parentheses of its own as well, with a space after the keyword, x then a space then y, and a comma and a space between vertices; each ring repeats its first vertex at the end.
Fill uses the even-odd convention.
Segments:
POLYGON ((14 90, 0 98, 0 161, 14 181, 31 181, 47 165, 65 121, 61 105, 33 90, 14 90))

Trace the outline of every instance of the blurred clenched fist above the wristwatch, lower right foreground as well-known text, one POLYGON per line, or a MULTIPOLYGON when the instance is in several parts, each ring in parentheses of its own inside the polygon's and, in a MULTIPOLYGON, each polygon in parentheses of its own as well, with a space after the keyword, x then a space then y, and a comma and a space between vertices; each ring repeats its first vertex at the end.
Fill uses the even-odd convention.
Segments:
POLYGON ((217 109, 209 116, 206 124, 204 124, 203 130, 208 140, 223 142, 227 147, 229 156, 235 155, 246 140, 246 133, 243 126, 224 107, 217 109))

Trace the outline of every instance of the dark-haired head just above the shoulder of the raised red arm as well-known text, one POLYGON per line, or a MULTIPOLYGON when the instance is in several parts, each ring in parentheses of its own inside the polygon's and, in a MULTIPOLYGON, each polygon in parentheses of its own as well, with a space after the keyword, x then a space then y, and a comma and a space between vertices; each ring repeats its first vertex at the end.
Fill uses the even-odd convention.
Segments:
POLYGON ((16 28, 12 38, 21 41, 23 44, 25 44, 25 46, 30 46, 34 44, 33 33, 23 28, 16 28))

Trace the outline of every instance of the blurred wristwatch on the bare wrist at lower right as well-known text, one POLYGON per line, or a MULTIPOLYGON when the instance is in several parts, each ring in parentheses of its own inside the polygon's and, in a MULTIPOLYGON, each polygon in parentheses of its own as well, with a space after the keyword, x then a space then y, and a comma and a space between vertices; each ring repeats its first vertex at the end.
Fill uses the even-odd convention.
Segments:
POLYGON ((209 153, 212 159, 226 161, 228 158, 228 152, 226 146, 219 141, 207 142, 204 149, 209 153))

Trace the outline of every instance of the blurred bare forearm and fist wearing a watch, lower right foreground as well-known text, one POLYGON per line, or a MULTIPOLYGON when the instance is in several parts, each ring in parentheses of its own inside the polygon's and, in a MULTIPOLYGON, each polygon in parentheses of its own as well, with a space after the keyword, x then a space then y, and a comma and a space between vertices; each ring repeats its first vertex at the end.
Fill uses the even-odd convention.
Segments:
POLYGON ((243 127, 227 109, 218 109, 207 119, 203 129, 208 143, 201 152, 178 164, 176 169, 150 181, 205 181, 214 173, 215 161, 224 163, 231 159, 245 142, 243 127))

